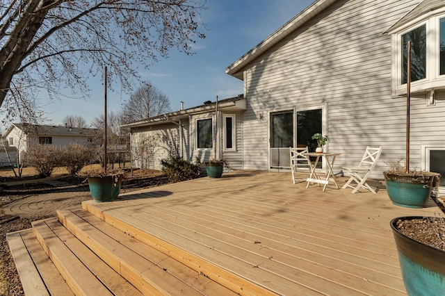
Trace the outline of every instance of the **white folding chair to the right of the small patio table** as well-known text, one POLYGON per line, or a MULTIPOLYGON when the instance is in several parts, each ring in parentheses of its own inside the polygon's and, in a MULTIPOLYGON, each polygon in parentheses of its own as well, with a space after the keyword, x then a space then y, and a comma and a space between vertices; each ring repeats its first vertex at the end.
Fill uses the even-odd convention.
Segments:
POLYGON ((382 154, 383 147, 366 147, 366 151, 364 152, 364 156, 362 161, 360 161, 357 167, 341 167, 343 171, 350 176, 348 182, 341 189, 345 189, 346 187, 353 188, 353 193, 357 192, 360 188, 364 188, 375 193, 375 190, 366 183, 366 179, 368 179, 369 175, 373 171, 375 164, 382 154), (352 186, 352 182, 357 183, 357 186, 352 186))

